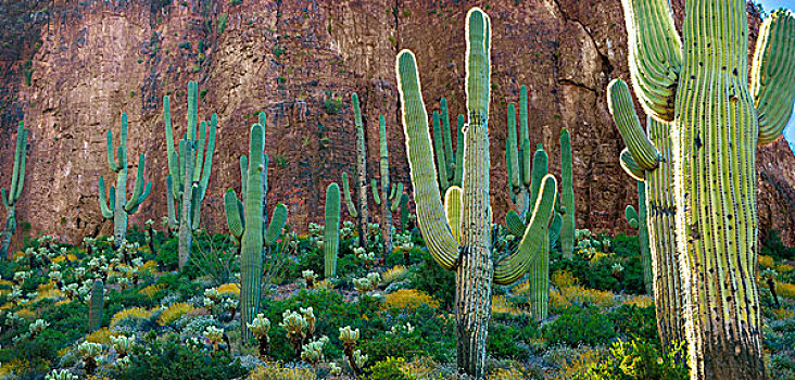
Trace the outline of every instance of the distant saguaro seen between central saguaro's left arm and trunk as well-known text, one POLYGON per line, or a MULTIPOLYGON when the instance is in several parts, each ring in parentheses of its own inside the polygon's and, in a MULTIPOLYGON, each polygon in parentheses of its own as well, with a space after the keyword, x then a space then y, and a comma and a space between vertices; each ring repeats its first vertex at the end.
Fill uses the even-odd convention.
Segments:
POLYGON ((456 150, 453 152, 453 136, 450 130, 450 112, 447 100, 439 100, 440 111, 433 111, 433 153, 438 167, 439 188, 447 191, 451 186, 460 187, 464 178, 464 167, 460 162, 464 160, 464 115, 458 115, 458 127, 456 128, 456 150))

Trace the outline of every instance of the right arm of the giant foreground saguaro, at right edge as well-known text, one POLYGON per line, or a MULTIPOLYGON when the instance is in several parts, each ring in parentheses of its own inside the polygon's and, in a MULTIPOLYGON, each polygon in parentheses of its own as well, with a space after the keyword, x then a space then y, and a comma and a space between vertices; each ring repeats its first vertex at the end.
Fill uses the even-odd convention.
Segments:
POLYGON ((750 94, 759 119, 759 144, 781 136, 795 102, 795 17, 779 10, 762 22, 750 72, 750 94))

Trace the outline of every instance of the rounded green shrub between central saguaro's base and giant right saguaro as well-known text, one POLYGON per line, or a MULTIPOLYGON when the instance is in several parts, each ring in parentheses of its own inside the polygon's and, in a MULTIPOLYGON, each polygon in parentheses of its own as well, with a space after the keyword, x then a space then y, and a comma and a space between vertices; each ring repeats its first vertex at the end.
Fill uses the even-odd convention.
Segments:
POLYGON ((595 346, 616 338, 616 330, 597 308, 570 306, 552 324, 544 326, 542 335, 552 344, 595 346))

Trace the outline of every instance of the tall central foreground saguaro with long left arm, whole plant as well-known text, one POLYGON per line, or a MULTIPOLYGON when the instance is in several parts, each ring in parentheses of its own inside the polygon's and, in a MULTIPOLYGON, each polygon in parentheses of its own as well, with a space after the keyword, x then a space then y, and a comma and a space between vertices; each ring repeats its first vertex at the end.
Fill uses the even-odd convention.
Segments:
POLYGON ((465 35, 468 123, 463 128, 463 187, 449 188, 444 204, 437 182, 428 113, 414 53, 402 50, 395 68, 419 228, 437 263, 456 273, 458 371, 482 378, 492 282, 512 283, 529 268, 530 255, 544 240, 557 183, 554 177, 544 177, 529 227, 517 251, 494 264, 491 255, 488 132, 491 22, 480 8, 472 8, 467 13, 465 35))

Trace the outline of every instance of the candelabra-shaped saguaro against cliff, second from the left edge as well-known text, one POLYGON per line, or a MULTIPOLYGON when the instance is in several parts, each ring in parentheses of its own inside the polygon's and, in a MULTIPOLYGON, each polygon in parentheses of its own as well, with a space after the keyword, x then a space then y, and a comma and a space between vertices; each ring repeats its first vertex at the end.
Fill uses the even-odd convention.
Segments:
POLYGON ((113 244, 118 248, 127 236, 127 215, 138 211, 149 191, 152 190, 152 182, 143 186, 143 166, 146 163, 146 153, 141 153, 138 159, 138 176, 136 185, 132 188, 132 195, 127 200, 127 113, 122 112, 122 130, 119 134, 118 160, 114 157, 113 132, 108 129, 108 164, 111 170, 116 173, 116 187, 111 185, 111 191, 105 197, 105 179, 100 176, 99 181, 99 201, 102 216, 105 219, 113 219, 113 244))

